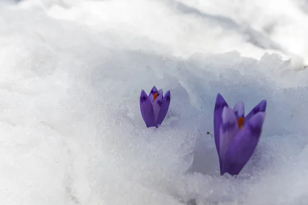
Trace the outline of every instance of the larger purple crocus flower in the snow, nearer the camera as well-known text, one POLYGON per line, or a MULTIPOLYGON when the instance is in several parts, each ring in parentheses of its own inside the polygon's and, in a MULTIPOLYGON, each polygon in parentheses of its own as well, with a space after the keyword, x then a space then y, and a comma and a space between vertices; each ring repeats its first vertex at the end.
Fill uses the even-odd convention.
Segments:
POLYGON ((262 132, 266 100, 244 117, 244 104, 228 107, 218 93, 214 110, 214 135, 220 174, 237 175, 253 155, 262 132))

